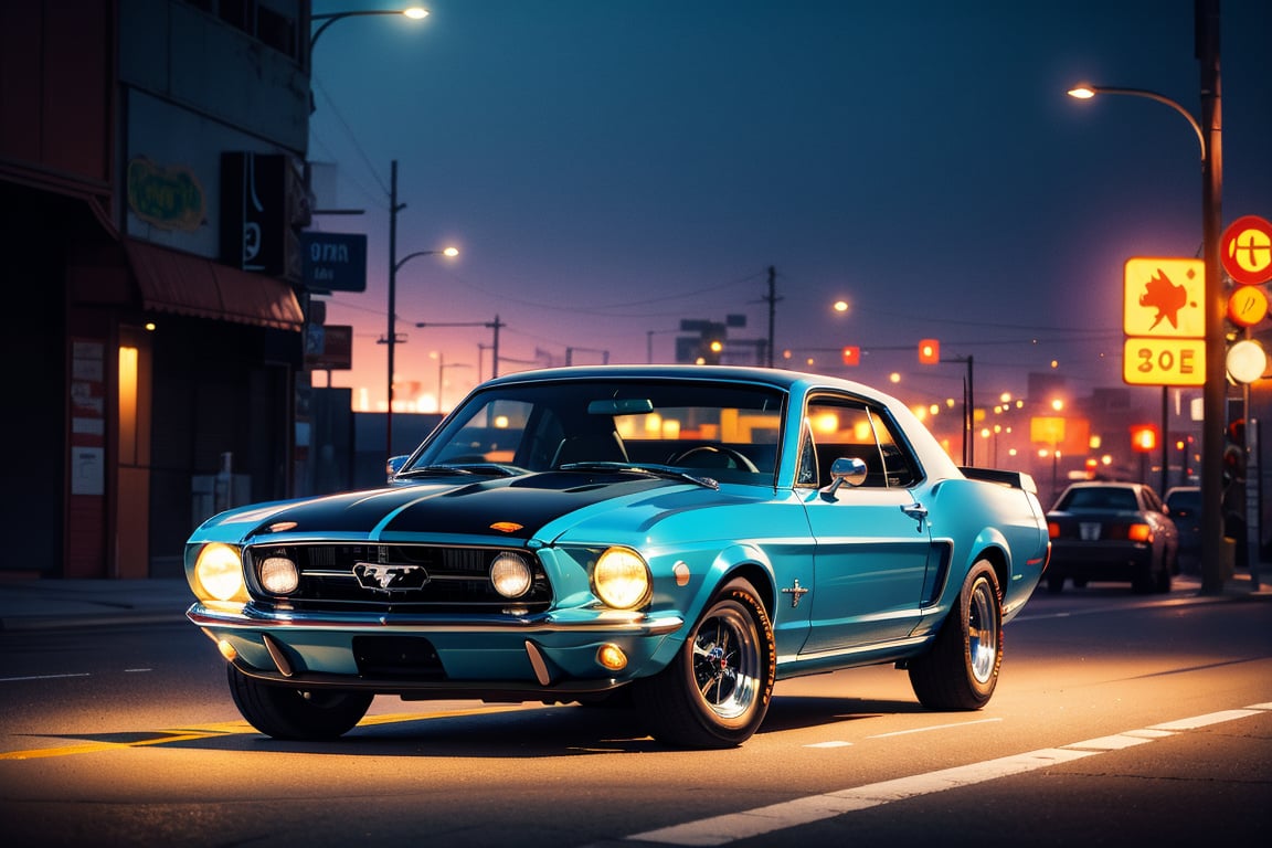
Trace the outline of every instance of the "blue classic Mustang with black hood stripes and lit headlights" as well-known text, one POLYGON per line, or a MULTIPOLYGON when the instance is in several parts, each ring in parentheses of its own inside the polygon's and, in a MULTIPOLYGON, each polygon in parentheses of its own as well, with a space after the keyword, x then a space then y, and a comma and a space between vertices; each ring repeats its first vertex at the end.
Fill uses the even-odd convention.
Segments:
POLYGON ((660 741, 728 748, 776 680, 883 662, 977 709, 1049 553, 1027 474, 959 468, 894 398, 813 374, 502 376, 391 467, 187 544, 187 615, 263 734, 340 736, 378 693, 630 698, 660 741))

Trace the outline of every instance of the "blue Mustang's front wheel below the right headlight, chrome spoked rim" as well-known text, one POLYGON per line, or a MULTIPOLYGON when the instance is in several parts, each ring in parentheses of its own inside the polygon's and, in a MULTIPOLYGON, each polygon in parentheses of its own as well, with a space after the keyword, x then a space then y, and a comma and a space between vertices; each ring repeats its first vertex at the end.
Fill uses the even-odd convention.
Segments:
POLYGON ((632 698, 663 744, 735 748, 763 722, 776 674, 768 613, 748 581, 734 580, 716 592, 675 659, 632 684, 632 698))

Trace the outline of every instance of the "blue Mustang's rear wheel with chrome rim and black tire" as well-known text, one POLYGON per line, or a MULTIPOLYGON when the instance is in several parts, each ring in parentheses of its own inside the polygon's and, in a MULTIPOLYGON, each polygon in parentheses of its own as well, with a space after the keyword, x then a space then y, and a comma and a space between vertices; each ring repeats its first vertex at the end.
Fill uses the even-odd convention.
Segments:
POLYGON ((931 650, 908 662, 909 685, 929 709, 979 709, 1002 666, 1002 591, 993 567, 978 561, 963 581, 931 650))

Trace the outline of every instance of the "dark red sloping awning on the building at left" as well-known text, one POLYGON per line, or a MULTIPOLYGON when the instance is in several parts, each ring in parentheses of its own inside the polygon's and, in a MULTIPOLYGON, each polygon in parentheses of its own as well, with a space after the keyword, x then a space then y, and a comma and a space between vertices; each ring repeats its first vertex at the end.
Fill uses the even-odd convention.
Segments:
POLYGON ((123 239, 146 309, 299 332, 304 314, 291 286, 192 253, 123 239))

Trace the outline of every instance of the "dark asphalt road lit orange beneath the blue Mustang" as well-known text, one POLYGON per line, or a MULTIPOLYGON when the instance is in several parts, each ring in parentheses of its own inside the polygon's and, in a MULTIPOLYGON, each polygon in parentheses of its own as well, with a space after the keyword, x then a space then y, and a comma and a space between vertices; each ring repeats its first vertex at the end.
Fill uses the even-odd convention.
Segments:
POLYGON ((841 671, 780 683, 728 751, 622 711, 396 698, 337 742, 279 742, 192 626, 0 633, 4 843, 1262 847, 1269 600, 1039 594, 985 709, 841 671))

